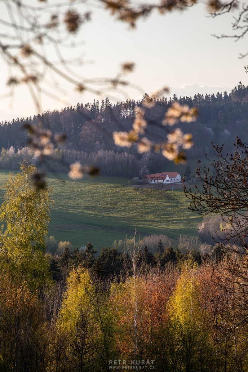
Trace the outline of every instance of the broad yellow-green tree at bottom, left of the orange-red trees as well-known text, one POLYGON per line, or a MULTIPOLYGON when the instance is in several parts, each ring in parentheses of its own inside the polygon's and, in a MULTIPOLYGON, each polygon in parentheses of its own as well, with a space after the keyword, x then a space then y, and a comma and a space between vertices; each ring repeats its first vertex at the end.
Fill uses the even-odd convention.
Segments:
POLYGON ((109 360, 119 358, 115 312, 110 307, 109 296, 81 266, 71 270, 67 278, 57 325, 70 340, 66 353, 71 370, 107 371, 109 360))

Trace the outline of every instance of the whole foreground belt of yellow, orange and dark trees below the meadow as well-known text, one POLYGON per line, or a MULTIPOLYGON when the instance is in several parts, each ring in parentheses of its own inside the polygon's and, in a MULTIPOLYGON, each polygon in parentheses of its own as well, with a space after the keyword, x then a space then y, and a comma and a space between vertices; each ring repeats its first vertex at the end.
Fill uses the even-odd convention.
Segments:
POLYGON ((198 260, 193 247, 184 256, 167 247, 167 263, 152 267, 135 239, 97 260, 88 243, 53 256, 66 271, 52 281, 39 222, 49 218, 49 190, 37 192, 32 167, 10 177, 1 208, 0 371, 100 372, 114 360, 150 360, 161 372, 247 370, 247 283, 233 271, 242 256, 198 260))

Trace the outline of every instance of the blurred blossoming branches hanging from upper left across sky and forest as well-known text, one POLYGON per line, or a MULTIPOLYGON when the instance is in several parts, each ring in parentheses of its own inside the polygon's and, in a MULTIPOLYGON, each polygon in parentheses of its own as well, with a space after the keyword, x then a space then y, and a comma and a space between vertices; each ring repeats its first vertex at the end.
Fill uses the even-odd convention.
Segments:
MULTIPOLYGON (((119 20, 127 22, 131 27, 135 27, 136 20, 140 17, 145 17, 151 14, 152 10, 157 9, 161 14, 172 10, 183 10, 191 7, 196 3, 196 0, 162 0, 160 3, 141 3, 135 4, 126 0, 99 0, 105 9, 119 20)), ((25 0, 10 0, 0 2, 0 14, 6 14, 6 17, 0 17, 2 30, 0 32, 0 54, 4 61, 10 66, 11 70, 15 70, 7 79, 7 86, 10 88, 9 96, 13 96, 15 87, 20 84, 28 86, 30 96, 36 106, 36 109, 41 112, 41 102, 39 96, 46 94, 53 99, 59 99, 58 94, 49 92, 44 89, 43 84, 50 85, 53 89, 58 90, 56 78, 62 78, 70 83, 77 92, 85 91, 102 94, 106 89, 125 89, 130 86, 143 93, 141 87, 135 86, 126 80, 126 75, 131 73, 135 67, 133 62, 123 62, 120 65, 119 72, 114 77, 110 78, 86 78, 75 73, 68 67, 70 62, 81 65, 81 58, 65 59, 61 52, 61 48, 74 47, 74 40, 80 27, 90 20, 90 12, 85 12, 84 5, 86 1, 69 1, 58 3, 55 1, 52 4, 43 3, 30 6, 25 0), (51 54, 48 53, 48 48, 53 47, 57 60, 52 61, 51 54), (51 77, 47 75, 51 74, 51 77)), ((90 1, 87 1, 87 6, 90 6, 90 1)), ((54 58, 53 58, 54 59, 54 58)), ((122 91, 125 94, 125 91, 122 91)), ((154 92, 151 97, 146 96, 142 101, 145 108, 151 108, 155 104, 156 98, 161 94, 168 93, 168 88, 165 87, 160 91, 154 92)), ((4 96, 5 97, 5 96, 4 96)), ((137 144, 139 153, 148 153, 149 151, 159 152, 170 160, 176 163, 185 162, 185 154, 183 149, 190 148, 193 145, 190 134, 183 134, 181 129, 175 128, 168 131, 166 125, 174 125, 177 122, 195 121, 197 110, 190 109, 188 106, 180 106, 174 103, 164 118, 159 122, 154 122, 157 126, 165 128, 166 136, 158 135, 147 128, 145 118, 145 110, 136 107, 136 118, 133 121, 133 129, 128 131, 117 120, 114 120, 117 128, 121 132, 110 133, 99 122, 88 117, 86 110, 80 110, 80 115, 84 116, 87 121, 91 121, 97 129, 105 135, 112 137, 116 144, 120 146, 131 147, 137 144), (144 136, 154 138, 154 142, 144 136)), ((113 116, 113 115, 112 115, 113 116)), ((150 125, 154 124, 152 121, 150 125)), ((25 129, 29 133, 28 145, 39 156, 40 160, 49 157, 54 149, 54 146, 65 138, 56 138, 52 131, 44 129, 42 123, 25 125, 25 129)), ((69 164, 68 164, 69 165, 69 164)), ((95 175, 99 171, 90 167, 83 167, 79 164, 71 165, 70 176, 76 178, 76 175, 81 177, 83 174, 95 175)), ((36 179, 39 179, 36 175, 36 179)), ((44 174, 41 177, 44 179, 44 174)), ((43 182, 43 181, 42 181, 43 182)))

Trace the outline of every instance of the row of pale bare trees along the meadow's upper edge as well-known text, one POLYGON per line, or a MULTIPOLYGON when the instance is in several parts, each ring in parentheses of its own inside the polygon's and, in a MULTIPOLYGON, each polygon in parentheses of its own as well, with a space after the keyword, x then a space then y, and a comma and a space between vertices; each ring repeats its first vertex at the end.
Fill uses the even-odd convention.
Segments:
POLYGON ((28 164, 35 164, 46 171, 68 172, 69 165, 79 161, 81 164, 92 164, 100 168, 102 176, 118 176, 118 177, 135 177, 140 176, 142 169, 147 171, 142 173, 149 174, 150 169, 160 169, 168 163, 168 160, 158 154, 144 154, 140 159, 131 153, 116 153, 112 150, 94 151, 87 153, 86 151, 56 148, 49 155, 49 159, 43 162, 39 161, 39 157, 29 147, 24 147, 22 150, 15 152, 15 148, 11 146, 9 150, 2 149, 0 153, 0 167, 5 169, 20 169, 20 164, 26 161, 28 164))

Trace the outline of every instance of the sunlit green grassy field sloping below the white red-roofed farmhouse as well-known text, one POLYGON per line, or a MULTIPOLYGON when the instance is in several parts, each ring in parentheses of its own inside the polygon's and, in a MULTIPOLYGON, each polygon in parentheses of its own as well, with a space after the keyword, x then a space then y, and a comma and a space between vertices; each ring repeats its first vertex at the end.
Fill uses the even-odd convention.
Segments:
MULTIPOLYGON (((13 171, 17 173, 17 171, 13 171)), ((8 179, 9 170, 0 170, 0 186, 8 179)), ((51 208, 49 235, 58 241, 70 241, 74 247, 87 244, 97 249, 113 241, 130 237, 136 227, 141 237, 146 234, 196 235, 202 220, 187 209, 183 189, 174 191, 123 187, 128 179, 119 177, 71 180, 59 174, 63 182, 50 173, 55 201, 51 208)), ((4 189, 0 189, 3 202, 4 189)))

